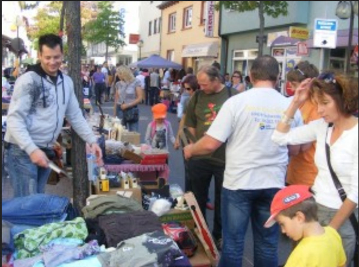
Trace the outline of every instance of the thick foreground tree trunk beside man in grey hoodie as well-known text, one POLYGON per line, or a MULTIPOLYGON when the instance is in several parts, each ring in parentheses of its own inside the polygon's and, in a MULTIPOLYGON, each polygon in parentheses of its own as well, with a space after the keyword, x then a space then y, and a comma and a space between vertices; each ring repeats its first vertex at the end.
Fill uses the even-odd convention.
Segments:
MULTIPOLYGON (((81 85, 81 18, 80 1, 69 1, 66 6, 66 31, 69 45, 69 75, 74 81, 75 94, 83 110, 81 85)), ((89 195, 85 142, 72 130, 71 165, 73 169, 74 206, 79 211, 89 195)))

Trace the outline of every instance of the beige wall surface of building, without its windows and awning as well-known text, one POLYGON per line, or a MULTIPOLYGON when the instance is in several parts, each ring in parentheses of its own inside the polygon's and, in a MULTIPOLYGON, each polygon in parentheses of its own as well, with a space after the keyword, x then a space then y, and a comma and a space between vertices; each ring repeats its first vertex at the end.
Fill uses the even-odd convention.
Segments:
POLYGON ((215 11, 214 37, 205 36, 205 24, 201 23, 202 1, 170 1, 171 6, 162 9, 161 56, 167 58, 168 51, 174 51, 174 61, 195 71, 202 65, 220 62, 220 38, 218 36, 219 11, 215 11), (192 6, 192 27, 184 28, 184 11, 192 6), (176 30, 169 31, 169 16, 176 13, 176 30), (182 58, 182 51, 187 45, 218 42, 217 57, 182 58))

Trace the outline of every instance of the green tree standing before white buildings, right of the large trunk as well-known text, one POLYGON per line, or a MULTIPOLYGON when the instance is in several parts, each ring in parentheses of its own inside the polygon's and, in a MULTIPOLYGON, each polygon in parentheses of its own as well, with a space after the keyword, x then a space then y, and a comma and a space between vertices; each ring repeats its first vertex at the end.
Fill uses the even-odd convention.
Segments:
POLYGON ((117 52, 120 46, 125 45, 121 39, 125 37, 125 33, 121 31, 123 23, 120 13, 114 11, 111 1, 99 2, 97 19, 85 24, 84 39, 93 44, 105 43, 107 59, 109 47, 115 48, 117 52))

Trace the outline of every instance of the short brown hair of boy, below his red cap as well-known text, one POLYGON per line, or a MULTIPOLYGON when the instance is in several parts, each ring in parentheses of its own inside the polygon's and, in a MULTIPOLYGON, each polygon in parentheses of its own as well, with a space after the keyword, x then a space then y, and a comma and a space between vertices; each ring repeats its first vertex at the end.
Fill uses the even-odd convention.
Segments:
POLYGON ((308 199, 281 211, 280 214, 292 219, 298 211, 301 211, 304 216, 306 216, 305 222, 310 223, 312 221, 318 221, 317 210, 317 203, 314 197, 309 197, 308 199))

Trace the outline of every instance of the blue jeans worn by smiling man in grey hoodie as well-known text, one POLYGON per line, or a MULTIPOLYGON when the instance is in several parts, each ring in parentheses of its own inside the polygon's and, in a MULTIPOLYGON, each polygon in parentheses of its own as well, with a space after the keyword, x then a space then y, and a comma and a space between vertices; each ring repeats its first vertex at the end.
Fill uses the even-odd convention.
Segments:
POLYGON ((14 197, 42 194, 51 173, 50 168, 38 167, 18 145, 5 149, 6 170, 14 189, 14 197))

